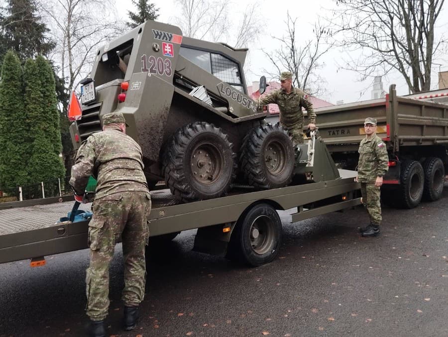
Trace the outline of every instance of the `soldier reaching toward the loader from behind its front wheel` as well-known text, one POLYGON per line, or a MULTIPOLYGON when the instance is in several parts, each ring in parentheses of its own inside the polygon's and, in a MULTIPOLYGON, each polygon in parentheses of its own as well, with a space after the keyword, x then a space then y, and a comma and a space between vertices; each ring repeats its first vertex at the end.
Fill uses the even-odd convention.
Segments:
POLYGON ((316 113, 313 104, 308 100, 308 95, 299 88, 292 86, 291 72, 282 72, 280 75, 281 89, 259 99, 259 105, 275 103, 280 110, 280 124, 289 132, 294 145, 303 143, 303 112, 304 107, 308 112, 308 127, 316 128, 316 113))

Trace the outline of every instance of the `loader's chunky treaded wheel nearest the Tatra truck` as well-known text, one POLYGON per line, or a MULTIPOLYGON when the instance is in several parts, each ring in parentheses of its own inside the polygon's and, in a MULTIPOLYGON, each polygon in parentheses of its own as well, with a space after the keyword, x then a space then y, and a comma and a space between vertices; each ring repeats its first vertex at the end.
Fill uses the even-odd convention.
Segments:
POLYGON ((257 189, 279 188, 291 182, 294 147, 279 124, 254 128, 243 143, 240 167, 244 179, 257 189))

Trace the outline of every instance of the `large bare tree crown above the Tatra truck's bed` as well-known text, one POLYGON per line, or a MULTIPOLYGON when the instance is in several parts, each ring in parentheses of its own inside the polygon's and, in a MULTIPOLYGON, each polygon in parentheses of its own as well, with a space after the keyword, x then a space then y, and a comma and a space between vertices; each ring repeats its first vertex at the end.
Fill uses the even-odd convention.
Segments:
POLYGON ((435 41, 444 1, 336 0, 331 17, 338 44, 348 52, 361 52, 357 62, 345 63, 345 69, 363 79, 379 70, 382 75, 396 70, 410 91, 430 90, 433 59, 446 42, 443 35, 435 41))

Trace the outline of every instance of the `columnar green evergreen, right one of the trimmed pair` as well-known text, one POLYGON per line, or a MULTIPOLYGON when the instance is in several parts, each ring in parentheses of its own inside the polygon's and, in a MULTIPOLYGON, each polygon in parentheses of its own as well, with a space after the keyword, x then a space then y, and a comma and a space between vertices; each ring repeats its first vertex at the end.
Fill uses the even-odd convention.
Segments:
POLYGON ((57 178, 63 178, 59 113, 53 70, 42 57, 27 60, 24 67, 25 111, 32 151, 28 161, 30 183, 44 181, 47 193, 55 194, 57 178))

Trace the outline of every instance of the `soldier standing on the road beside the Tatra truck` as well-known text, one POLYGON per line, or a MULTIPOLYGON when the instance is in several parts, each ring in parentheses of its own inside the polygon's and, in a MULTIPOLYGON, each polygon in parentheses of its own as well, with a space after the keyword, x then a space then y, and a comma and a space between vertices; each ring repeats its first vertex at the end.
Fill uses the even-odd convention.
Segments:
POLYGON ((361 229, 361 235, 373 237, 380 234, 380 188, 389 159, 386 144, 376 135, 376 119, 366 118, 364 130, 365 138, 359 144, 358 175, 355 180, 361 183, 362 201, 370 217, 370 224, 361 229))

